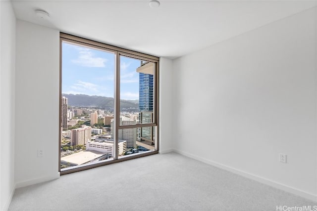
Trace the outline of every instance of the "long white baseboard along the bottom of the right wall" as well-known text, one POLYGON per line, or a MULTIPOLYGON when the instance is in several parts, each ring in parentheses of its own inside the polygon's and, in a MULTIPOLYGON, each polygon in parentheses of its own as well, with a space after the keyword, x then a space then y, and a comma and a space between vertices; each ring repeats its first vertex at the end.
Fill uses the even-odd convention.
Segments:
POLYGON ((269 179, 263 178, 261 176, 257 176, 257 175, 254 175, 254 174, 239 170, 239 169, 228 167, 228 166, 225 166, 223 164, 219 164, 217 162, 213 162, 211 160, 208 160, 208 159, 196 156, 196 155, 192 155, 192 154, 187 153, 187 152, 183 152, 183 151, 175 150, 175 149, 173 149, 173 152, 179 153, 179 154, 184 155, 184 156, 189 157, 189 158, 193 158, 195 160, 204 162, 206 164, 209 164, 211 166, 215 166, 215 167, 220 168, 220 169, 231 171, 231 172, 239 174, 241 176, 244 176, 244 177, 256 180, 258 182, 264 183, 266 185, 272 186, 274 188, 281 189, 281 190, 284 190, 286 192, 295 194, 297 196, 300 196, 300 197, 312 200, 314 202, 317 202, 317 195, 313 195, 311 193, 307 193, 305 191, 302 191, 302 190, 299 190, 299 189, 296 189, 296 188, 281 184, 279 182, 275 182, 275 181, 272 181, 272 180, 269 180, 269 179))

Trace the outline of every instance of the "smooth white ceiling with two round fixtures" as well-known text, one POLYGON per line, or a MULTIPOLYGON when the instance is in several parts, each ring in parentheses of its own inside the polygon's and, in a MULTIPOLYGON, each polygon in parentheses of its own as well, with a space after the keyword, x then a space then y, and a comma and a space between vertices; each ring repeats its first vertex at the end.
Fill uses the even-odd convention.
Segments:
POLYGON ((155 56, 177 58, 317 5, 317 1, 12 0, 17 19, 155 56), (49 12, 50 19, 36 16, 49 12))

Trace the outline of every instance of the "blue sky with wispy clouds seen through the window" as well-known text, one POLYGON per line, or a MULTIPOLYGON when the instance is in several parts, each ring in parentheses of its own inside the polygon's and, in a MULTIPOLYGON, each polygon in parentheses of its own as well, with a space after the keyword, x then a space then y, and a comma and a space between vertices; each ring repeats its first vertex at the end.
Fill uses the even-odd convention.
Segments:
MULTIPOLYGON (((114 95, 114 54, 62 42, 62 93, 114 95)), ((120 99, 139 99, 141 61, 120 57, 120 99)))

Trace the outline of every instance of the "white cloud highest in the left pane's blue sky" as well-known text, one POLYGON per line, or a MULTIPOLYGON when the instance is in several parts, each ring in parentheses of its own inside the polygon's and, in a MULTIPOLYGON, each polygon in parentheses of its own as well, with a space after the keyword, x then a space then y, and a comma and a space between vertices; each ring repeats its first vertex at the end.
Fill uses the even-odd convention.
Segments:
POLYGON ((75 46, 75 49, 78 50, 78 58, 73 59, 74 64, 83 66, 83 67, 105 67, 106 58, 94 57, 93 52, 89 48, 75 46))

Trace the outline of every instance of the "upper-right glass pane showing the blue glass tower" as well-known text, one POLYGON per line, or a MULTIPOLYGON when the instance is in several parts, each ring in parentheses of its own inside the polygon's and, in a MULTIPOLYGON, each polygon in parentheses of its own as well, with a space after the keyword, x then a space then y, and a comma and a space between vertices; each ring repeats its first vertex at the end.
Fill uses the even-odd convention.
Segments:
POLYGON ((154 73, 153 62, 120 56, 120 115, 133 120, 128 125, 153 123, 154 73))

